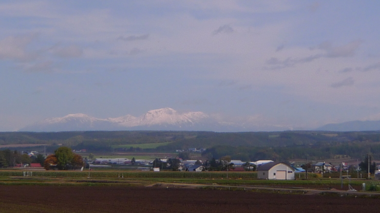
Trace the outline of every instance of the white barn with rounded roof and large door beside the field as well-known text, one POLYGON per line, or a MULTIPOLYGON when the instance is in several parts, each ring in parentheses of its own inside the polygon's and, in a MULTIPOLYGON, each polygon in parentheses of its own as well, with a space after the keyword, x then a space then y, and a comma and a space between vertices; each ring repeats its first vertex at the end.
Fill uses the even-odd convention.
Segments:
POLYGON ((294 180, 294 168, 284 162, 265 163, 257 168, 258 179, 294 180))

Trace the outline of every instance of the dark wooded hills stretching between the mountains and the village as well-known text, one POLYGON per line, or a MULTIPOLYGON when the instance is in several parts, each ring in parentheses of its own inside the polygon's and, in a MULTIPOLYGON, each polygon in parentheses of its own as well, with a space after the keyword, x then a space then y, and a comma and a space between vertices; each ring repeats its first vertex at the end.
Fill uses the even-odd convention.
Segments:
POLYGON ((84 132, 2 132, 0 145, 48 144, 87 149, 88 152, 113 151, 113 145, 170 142, 140 152, 173 152, 188 148, 206 148, 207 158, 229 155, 233 159, 287 160, 309 157, 327 159, 337 156, 363 158, 372 153, 380 158, 380 132, 192 132, 192 131, 84 131, 84 132))

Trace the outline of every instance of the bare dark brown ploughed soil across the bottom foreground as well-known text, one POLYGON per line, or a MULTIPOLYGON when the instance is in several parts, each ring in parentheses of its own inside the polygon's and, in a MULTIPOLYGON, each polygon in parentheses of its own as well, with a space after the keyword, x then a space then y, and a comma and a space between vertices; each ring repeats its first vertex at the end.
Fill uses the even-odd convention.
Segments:
POLYGON ((0 212, 377 212, 378 199, 125 186, 0 185, 0 212))

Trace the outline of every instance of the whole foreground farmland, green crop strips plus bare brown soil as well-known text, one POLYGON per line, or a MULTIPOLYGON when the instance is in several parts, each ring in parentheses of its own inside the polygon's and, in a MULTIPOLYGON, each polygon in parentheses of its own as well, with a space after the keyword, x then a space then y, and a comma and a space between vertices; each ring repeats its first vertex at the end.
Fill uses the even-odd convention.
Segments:
POLYGON ((0 170, 0 212, 373 211, 373 180, 258 180, 256 172, 0 170), (35 195, 35 196, 30 196, 35 195), (314 195, 314 196, 310 196, 314 195), (329 196, 318 196, 329 195, 329 196), (338 206, 338 207, 336 207, 338 206))

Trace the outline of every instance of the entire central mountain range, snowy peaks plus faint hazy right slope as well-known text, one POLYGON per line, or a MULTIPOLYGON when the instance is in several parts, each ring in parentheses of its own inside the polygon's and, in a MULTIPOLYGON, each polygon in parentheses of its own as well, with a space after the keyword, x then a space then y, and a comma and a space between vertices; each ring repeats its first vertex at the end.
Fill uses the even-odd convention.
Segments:
POLYGON ((25 126, 19 131, 62 132, 62 131, 215 131, 250 132, 284 131, 289 127, 275 125, 255 125, 220 121, 202 112, 179 113, 171 108, 150 110, 135 117, 125 115, 118 118, 94 118, 85 114, 69 114, 60 118, 48 118, 25 126))

